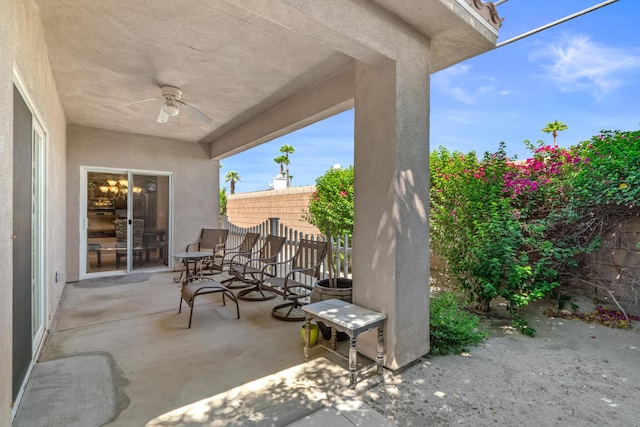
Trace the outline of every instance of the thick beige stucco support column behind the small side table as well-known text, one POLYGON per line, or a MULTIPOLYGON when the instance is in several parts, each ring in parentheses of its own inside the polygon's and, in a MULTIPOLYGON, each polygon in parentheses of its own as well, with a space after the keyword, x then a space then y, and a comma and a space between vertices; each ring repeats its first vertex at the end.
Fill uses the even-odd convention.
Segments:
MULTIPOLYGON (((418 47, 356 64, 353 297, 387 314, 394 370, 429 351, 429 49, 418 47)), ((368 335, 358 345, 373 359, 368 335)))

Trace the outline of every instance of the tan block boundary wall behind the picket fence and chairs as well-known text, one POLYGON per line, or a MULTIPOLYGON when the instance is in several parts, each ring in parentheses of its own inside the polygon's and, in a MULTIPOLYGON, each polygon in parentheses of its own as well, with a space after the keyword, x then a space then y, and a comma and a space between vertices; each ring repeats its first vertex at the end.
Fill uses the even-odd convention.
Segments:
POLYGON ((306 234, 321 234, 302 219, 309 206, 309 197, 315 191, 313 185, 289 187, 284 190, 254 191, 227 195, 229 222, 250 227, 279 218, 279 223, 306 234))

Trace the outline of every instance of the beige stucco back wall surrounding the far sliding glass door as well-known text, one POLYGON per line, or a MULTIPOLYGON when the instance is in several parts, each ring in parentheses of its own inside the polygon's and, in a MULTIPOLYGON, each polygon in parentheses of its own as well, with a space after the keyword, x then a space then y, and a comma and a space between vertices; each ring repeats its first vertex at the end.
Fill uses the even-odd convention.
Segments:
POLYGON ((199 144, 74 125, 67 141, 67 281, 79 278, 81 166, 171 172, 173 251, 219 224, 219 163, 199 144))

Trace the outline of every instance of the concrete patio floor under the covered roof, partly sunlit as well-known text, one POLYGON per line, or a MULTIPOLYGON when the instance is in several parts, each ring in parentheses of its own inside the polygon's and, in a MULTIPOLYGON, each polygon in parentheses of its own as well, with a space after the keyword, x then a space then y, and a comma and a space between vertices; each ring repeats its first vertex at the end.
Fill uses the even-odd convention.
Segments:
MULTIPOLYGON (((67 284, 14 426, 392 425, 348 388, 346 362, 323 349, 304 363, 301 322, 278 300, 196 300, 178 314, 174 273, 67 284)), ((385 374, 385 376, 388 374, 385 374)))

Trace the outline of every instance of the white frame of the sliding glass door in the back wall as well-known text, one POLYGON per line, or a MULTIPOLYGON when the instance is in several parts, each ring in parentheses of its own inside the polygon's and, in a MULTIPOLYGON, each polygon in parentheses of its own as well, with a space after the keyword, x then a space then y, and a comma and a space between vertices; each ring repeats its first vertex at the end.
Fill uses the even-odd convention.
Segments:
MULTIPOLYGON (((166 176, 169 180, 169 188, 167 195, 169 207, 168 213, 169 215, 167 221, 167 247, 165 250, 167 251, 167 259, 171 259, 171 236, 173 229, 173 172, 167 171, 155 171, 155 170, 145 170, 145 169, 130 169, 130 168, 115 168, 115 167, 104 167, 104 166, 80 166, 80 204, 79 204, 79 212, 78 221, 79 224, 79 242, 78 242, 78 256, 80 257, 78 268, 79 268, 79 279, 90 279, 90 278, 98 278, 98 277, 111 277, 111 276, 120 276, 125 274, 130 274, 133 272, 139 272, 141 269, 133 269, 132 268, 132 257, 127 256, 127 266, 124 270, 108 270, 108 271, 99 271, 95 273, 87 273, 87 230, 89 228, 89 219, 87 216, 87 208, 89 202, 88 195, 88 175, 90 172, 98 172, 98 173, 107 173, 107 174, 121 174, 127 175, 127 180, 129 182, 133 182, 133 175, 148 175, 148 176, 166 176)), ((133 200, 128 197, 127 198, 127 218, 131 219, 133 216, 133 200)), ((127 254, 131 251, 131 226, 127 227, 127 254)), ((163 267, 152 267, 148 269, 143 269, 143 271, 163 271, 168 270, 170 268, 169 265, 163 267)))

